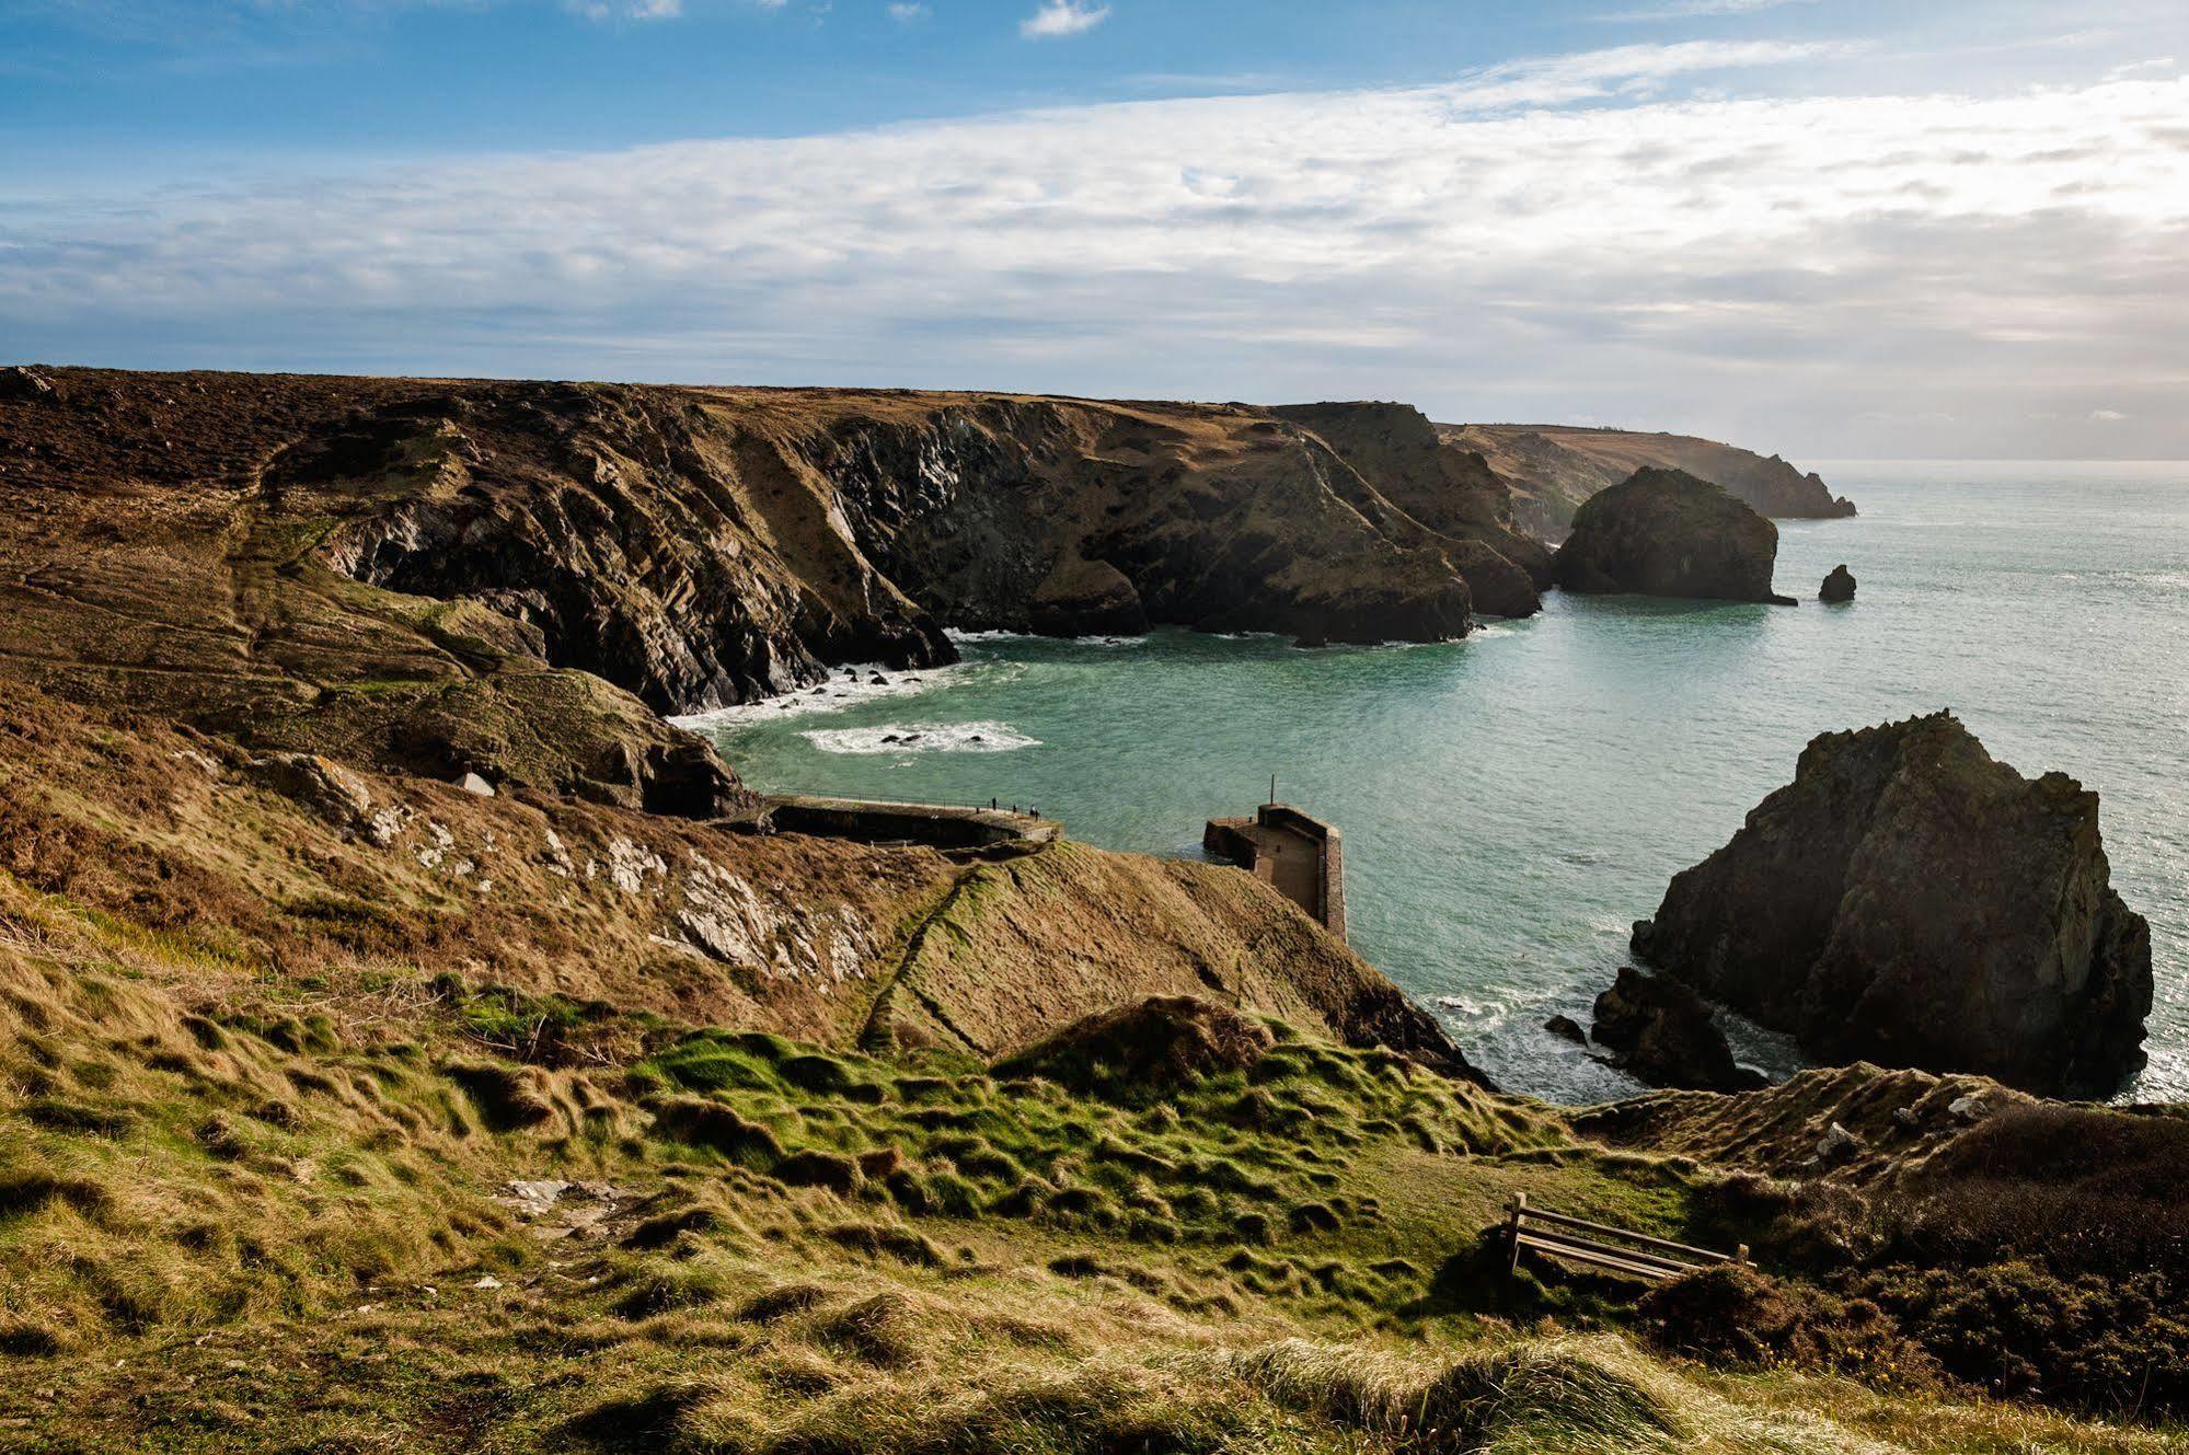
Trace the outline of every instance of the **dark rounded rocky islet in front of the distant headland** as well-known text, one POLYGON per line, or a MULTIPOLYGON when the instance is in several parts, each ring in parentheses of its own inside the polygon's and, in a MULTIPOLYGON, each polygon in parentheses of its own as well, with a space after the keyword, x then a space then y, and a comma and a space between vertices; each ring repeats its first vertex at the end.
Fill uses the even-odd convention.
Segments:
POLYGON ((1710 481, 1635 470, 1574 514, 1552 560, 1567 591, 1786 602, 1771 591, 1777 527, 1710 481))

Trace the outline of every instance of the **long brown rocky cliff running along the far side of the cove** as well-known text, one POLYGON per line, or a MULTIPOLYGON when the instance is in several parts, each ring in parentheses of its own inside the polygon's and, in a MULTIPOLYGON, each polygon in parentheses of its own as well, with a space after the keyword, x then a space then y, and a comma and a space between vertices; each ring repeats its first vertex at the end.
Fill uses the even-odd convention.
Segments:
POLYGON ((1471 584, 1519 615, 1548 578, 1495 475, 1394 405, 37 379, 0 400, 0 477, 28 497, 9 510, 112 569, 109 595, 151 564, 151 593, 230 602, 225 645, 199 637, 193 661, 245 698, 267 687, 234 672, 252 656, 377 637, 366 654, 414 659, 381 676, 495 659, 698 711, 830 663, 950 661, 948 626, 1427 641, 1469 630, 1471 584), (201 538, 147 560, 142 512, 101 521, 99 499, 155 499, 201 538), (412 619, 326 578, 414 600, 412 619))

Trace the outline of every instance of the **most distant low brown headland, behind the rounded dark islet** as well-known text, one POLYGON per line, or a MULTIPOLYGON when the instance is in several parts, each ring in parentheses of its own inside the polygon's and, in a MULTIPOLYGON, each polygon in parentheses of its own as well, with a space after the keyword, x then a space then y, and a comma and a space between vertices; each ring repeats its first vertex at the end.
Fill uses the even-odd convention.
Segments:
POLYGON ((1777 455, 1758 455, 1694 435, 1583 429, 1572 424, 1438 424, 1456 449, 1480 451, 1513 488, 1513 519, 1543 540, 1561 540, 1574 512, 1598 490, 1635 470, 1686 470, 1721 486, 1762 516, 1852 516, 1854 501, 1832 497, 1823 479, 1777 455))

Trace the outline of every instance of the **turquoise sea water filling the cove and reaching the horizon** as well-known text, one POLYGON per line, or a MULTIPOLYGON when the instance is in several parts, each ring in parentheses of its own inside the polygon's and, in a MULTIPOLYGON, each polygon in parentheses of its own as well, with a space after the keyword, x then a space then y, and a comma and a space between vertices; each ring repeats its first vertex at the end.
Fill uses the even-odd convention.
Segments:
MULTIPOLYGON (((919 683, 711 724, 760 788, 1038 805, 1112 849, 1200 853, 1283 799, 1346 834, 1355 947, 1513 1090, 1633 1090, 1541 1031, 1587 1020, 1633 919, 1793 777, 1819 731, 1955 709, 1994 757, 2104 799, 2152 921, 2152 1066, 2189 1098, 2189 464, 1823 468, 1854 521, 1780 523, 1799 608, 1587 600, 1445 645, 970 639, 919 683), (1845 560, 1852 606, 1812 597, 1845 560), (911 744, 884 744, 887 735, 911 744)), ((1742 1052, 1786 1068, 1767 1037, 1742 1052)))

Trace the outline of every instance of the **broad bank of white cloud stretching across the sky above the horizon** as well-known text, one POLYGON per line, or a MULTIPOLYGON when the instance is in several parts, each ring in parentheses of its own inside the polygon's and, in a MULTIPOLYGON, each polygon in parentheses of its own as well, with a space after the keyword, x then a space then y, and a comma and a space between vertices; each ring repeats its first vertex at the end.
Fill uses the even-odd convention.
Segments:
POLYGON ((1635 101, 1812 55, 1666 46, 1418 90, 50 199, 0 214, 0 337, 2189 457, 2167 403, 2189 387, 2189 79, 1635 101))

